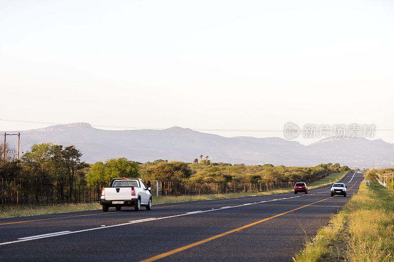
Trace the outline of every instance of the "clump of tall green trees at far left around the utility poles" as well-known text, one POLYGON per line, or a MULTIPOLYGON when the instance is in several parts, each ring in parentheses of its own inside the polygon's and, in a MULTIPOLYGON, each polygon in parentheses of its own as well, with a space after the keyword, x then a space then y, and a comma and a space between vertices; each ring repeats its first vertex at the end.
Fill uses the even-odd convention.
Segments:
MULTIPOLYGON (((39 184, 40 188, 47 188, 51 194, 68 201, 74 193, 75 182, 84 180, 83 170, 90 167, 81 161, 82 153, 74 146, 63 147, 51 143, 33 145, 20 160, 17 160, 15 149, 7 145, 5 148, 1 145, 0 149, 1 190, 38 187, 39 184)), ((21 195, 24 193, 18 192, 21 195)))

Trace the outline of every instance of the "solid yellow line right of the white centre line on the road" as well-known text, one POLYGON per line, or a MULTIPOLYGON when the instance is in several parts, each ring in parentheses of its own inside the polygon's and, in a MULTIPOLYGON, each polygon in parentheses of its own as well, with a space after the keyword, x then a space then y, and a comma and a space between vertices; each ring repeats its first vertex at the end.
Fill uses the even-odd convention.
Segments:
MULTIPOLYGON (((358 181, 360 181, 360 180, 358 180, 358 181)), ((358 182, 358 181, 357 181, 357 182, 358 182)), ((357 184, 357 182, 356 182, 353 186, 355 186, 355 185, 357 184)), ((349 188, 349 190, 352 189, 353 186, 352 186, 351 188, 349 188)), ((333 197, 326 198, 326 199, 323 199, 323 200, 314 202, 314 203, 312 203, 312 204, 316 204, 316 203, 319 203, 319 202, 322 202, 322 201, 325 201, 325 200, 328 200, 328 199, 331 199, 331 198, 333 198, 333 197)), ((183 251, 183 250, 186 250, 186 249, 189 249, 189 248, 198 246, 198 245, 200 245, 200 244, 209 242, 209 241, 211 241, 211 240, 214 240, 214 239, 216 239, 216 238, 219 238, 219 237, 228 235, 228 234, 230 234, 230 233, 237 232, 238 230, 242 230, 242 229, 245 229, 245 228, 248 228, 248 227, 251 227, 251 226, 260 224, 260 223, 262 223, 262 222, 264 222, 264 221, 267 221, 267 220, 270 220, 270 219, 272 219, 272 218, 276 218, 276 217, 279 217, 279 216, 288 214, 288 213, 290 213, 290 212, 296 211, 296 210, 298 210, 298 209, 307 207, 307 206, 312 205, 312 204, 306 204, 306 205, 297 207, 297 208, 295 208, 295 209, 292 209, 292 210, 290 210, 290 211, 283 212, 283 213, 280 213, 280 214, 277 214, 277 215, 274 215, 274 216, 271 216, 271 217, 268 217, 268 218, 264 218, 264 219, 262 219, 262 220, 260 220, 260 221, 257 221, 257 222, 254 222, 254 223, 245 225, 245 226, 243 226, 243 227, 236 228, 236 229, 233 229, 233 230, 230 230, 230 231, 228 231, 228 232, 221 233, 221 234, 218 234, 218 235, 214 235, 214 236, 208 237, 208 238, 206 238, 206 239, 204 239, 204 240, 197 241, 197 242, 195 242, 195 243, 193 243, 193 244, 189 244, 189 245, 186 245, 186 246, 183 246, 183 247, 180 247, 180 248, 177 248, 177 249, 174 249, 174 250, 171 250, 171 251, 162 253, 162 254, 160 254, 160 255, 154 256, 154 257, 149 258, 149 259, 146 259, 146 260, 142 260, 141 262, 151 262, 151 261, 156 261, 156 260, 159 260, 159 259, 168 257, 168 256, 170 256, 170 255, 173 255, 173 254, 175 254, 175 253, 181 252, 181 251, 183 251)))

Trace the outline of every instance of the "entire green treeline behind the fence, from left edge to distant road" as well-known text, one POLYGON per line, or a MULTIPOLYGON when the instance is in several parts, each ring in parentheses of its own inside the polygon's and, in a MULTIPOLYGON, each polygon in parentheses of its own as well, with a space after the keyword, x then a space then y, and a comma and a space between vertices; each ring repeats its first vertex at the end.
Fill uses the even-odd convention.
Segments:
POLYGON ((51 143, 33 145, 18 161, 14 149, 5 146, 5 159, 1 158, 2 150, 4 146, 0 146, 0 176, 3 182, 16 183, 18 180, 27 186, 39 179, 62 199, 72 196, 72 185, 76 181, 106 183, 115 177, 140 177, 146 181, 271 183, 303 181, 327 173, 350 171, 349 167, 341 167, 338 163, 314 167, 275 167, 271 164, 246 166, 211 163, 209 160, 185 163, 159 159, 138 163, 118 158, 87 164, 81 161, 82 153, 74 146, 51 143))

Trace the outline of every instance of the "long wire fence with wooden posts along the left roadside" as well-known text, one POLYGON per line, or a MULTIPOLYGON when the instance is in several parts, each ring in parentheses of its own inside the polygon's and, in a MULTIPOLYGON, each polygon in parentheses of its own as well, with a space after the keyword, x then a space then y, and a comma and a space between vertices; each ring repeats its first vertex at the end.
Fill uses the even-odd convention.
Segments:
MULTIPOLYGON (((320 180, 328 174, 304 180, 307 184, 320 180)), ((101 188, 109 181, 90 183, 85 180, 47 181, 36 178, 33 181, 22 179, 4 180, 1 178, 1 207, 23 205, 48 205, 66 203, 98 202, 101 188)), ((153 196, 182 196, 203 194, 226 194, 241 192, 260 192, 293 187, 295 182, 277 183, 187 183, 174 181, 145 181, 152 187, 153 196), (159 183, 160 182, 160 183, 159 183)))

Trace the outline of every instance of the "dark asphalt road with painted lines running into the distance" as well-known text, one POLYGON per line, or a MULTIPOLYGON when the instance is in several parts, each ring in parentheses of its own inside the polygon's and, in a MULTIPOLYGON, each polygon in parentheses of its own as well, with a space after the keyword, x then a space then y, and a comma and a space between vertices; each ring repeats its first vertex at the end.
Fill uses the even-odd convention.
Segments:
POLYGON ((0 219, 0 261, 290 261, 359 190, 362 174, 280 194, 0 219), (197 212, 198 211, 198 212, 197 212))

